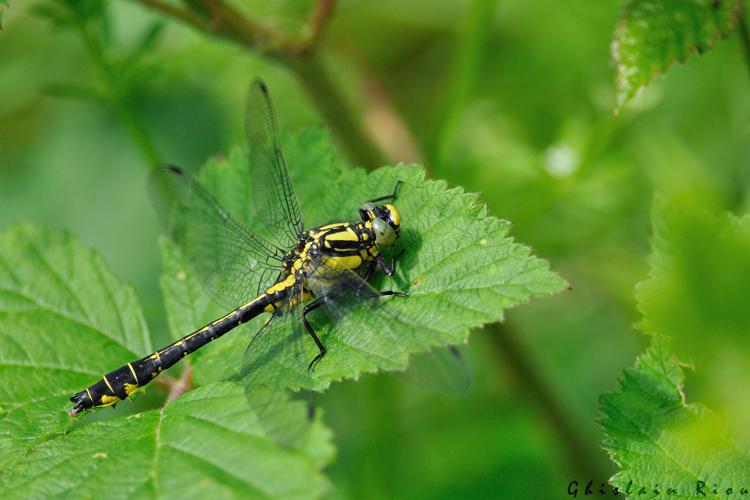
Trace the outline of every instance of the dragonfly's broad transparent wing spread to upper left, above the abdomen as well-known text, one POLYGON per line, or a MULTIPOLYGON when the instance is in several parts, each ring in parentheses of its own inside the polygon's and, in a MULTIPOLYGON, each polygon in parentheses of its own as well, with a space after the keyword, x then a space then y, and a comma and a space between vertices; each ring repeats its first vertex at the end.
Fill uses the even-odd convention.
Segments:
POLYGON ((232 218, 187 172, 156 169, 150 188, 170 236, 215 301, 234 309, 274 283, 283 251, 232 218))

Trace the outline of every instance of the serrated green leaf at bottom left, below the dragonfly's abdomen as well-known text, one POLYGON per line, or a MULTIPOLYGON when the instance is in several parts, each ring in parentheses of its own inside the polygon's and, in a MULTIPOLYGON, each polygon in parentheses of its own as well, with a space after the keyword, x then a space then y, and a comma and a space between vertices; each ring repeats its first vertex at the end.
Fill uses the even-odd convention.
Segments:
POLYGON ((283 393, 263 411, 274 419, 251 411, 238 384, 207 385, 161 410, 95 422, 39 444, 0 477, 0 489, 16 498, 320 496, 328 483, 319 469, 331 447, 319 419, 311 424, 305 405, 283 393))

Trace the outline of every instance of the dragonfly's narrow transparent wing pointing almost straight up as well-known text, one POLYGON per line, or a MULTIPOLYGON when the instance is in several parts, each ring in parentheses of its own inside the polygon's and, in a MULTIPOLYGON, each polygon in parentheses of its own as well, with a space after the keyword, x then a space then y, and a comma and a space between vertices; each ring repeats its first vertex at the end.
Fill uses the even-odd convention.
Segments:
POLYGON ((286 162, 266 85, 256 80, 247 93, 245 132, 250 145, 253 209, 281 248, 297 242, 304 224, 286 162))

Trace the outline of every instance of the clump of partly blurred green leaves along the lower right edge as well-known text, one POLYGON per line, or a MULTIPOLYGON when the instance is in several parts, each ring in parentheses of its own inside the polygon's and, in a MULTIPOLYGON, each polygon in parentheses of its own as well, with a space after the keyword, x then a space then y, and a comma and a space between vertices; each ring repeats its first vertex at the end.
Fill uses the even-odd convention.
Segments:
MULTIPOLYGON (((620 469, 612 482, 623 490, 630 485, 631 492, 671 487, 681 497, 700 496, 698 481, 708 485, 705 492, 739 493, 750 488, 750 456, 732 420, 744 428, 748 401, 732 397, 728 404, 737 417, 729 420, 720 416, 723 408, 717 415, 687 404, 674 353, 697 368, 694 384, 721 373, 720 365, 725 371, 737 362, 747 367, 747 351, 737 352, 737 345, 748 331, 742 299, 750 277, 748 218, 716 217, 689 202, 659 197, 653 221, 651 272, 638 286, 638 301, 641 326, 654 340, 636 367, 625 371, 620 390, 601 398, 604 447, 620 469), (730 351, 739 359, 727 357, 730 351)), ((735 383, 741 380, 729 373, 735 383)))

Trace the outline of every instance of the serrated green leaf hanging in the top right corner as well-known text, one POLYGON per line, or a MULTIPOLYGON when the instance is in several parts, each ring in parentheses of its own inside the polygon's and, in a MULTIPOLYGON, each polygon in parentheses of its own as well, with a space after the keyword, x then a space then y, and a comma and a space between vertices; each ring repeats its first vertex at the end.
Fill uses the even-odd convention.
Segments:
POLYGON ((616 109, 675 62, 711 49, 732 32, 741 11, 741 0, 629 0, 612 42, 616 109))

